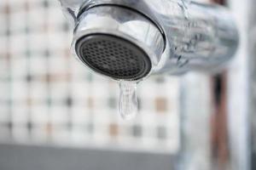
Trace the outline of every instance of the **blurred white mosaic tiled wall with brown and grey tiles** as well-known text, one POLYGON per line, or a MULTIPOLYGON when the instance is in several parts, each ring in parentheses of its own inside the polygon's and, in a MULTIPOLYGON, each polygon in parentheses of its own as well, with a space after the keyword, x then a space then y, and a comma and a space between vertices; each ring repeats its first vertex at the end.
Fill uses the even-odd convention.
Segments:
POLYGON ((118 116, 116 82, 70 54, 72 30, 57 0, 1 0, 0 140, 168 151, 179 148, 179 80, 138 87, 139 116, 118 116))

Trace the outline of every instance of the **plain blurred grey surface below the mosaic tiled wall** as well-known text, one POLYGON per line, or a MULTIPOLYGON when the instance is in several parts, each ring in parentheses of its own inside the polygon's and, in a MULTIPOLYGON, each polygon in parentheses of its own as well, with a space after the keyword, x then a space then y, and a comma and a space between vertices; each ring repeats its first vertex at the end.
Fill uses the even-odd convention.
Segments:
POLYGON ((0 170, 172 170, 173 157, 0 144, 0 170))

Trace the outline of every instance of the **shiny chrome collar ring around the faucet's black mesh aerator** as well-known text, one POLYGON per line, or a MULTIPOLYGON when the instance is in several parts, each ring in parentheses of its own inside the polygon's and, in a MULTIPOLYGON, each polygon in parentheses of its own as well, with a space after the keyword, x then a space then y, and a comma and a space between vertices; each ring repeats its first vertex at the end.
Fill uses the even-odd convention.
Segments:
POLYGON ((164 38, 154 23, 143 14, 118 6, 98 6, 85 10, 78 18, 73 34, 73 50, 84 35, 108 34, 122 37, 148 54, 153 70, 165 48, 164 38))

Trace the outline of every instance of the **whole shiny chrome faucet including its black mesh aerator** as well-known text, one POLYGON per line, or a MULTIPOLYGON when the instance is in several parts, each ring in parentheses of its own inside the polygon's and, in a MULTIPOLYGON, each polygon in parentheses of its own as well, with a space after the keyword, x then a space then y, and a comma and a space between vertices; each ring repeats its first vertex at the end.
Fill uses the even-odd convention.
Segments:
POLYGON ((218 71, 236 53, 238 31, 217 4, 183 0, 60 0, 72 50, 114 80, 218 71))

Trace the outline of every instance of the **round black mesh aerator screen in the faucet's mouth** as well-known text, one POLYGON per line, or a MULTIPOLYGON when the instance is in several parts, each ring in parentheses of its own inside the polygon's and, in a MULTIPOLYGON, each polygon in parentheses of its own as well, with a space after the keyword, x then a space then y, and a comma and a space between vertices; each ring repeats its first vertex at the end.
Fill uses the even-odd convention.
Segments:
POLYGON ((151 68, 143 49, 121 37, 103 34, 82 37, 76 51, 86 65, 108 77, 137 80, 147 76, 151 68))

